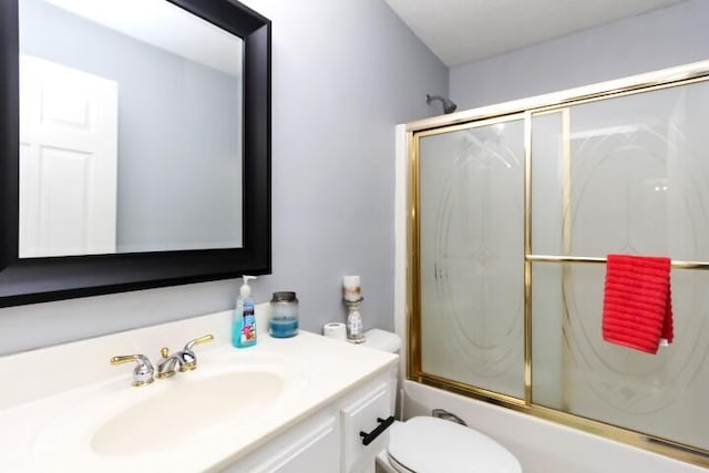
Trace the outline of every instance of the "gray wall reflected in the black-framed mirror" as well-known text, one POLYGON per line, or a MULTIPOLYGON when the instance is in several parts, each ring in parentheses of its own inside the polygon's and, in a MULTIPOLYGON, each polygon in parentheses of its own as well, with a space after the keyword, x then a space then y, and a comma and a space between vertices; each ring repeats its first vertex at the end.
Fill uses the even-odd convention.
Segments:
POLYGON ((117 250, 242 246, 240 78, 20 4, 21 52, 117 82, 117 250))

